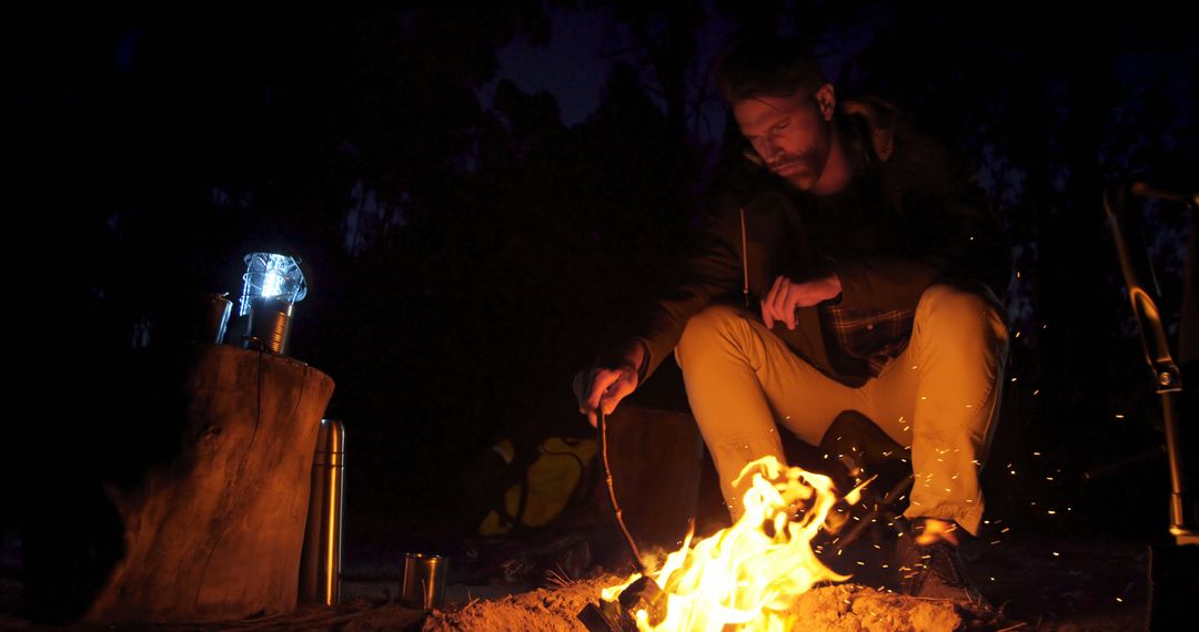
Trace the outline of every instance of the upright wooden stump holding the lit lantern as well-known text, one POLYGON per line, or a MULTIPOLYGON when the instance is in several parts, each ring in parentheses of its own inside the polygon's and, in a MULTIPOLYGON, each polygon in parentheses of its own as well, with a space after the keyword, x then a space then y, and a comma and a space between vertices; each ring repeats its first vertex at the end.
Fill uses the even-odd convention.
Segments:
POLYGON ((325 373, 195 347, 182 452, 115 497, 126 551, 90 621, 228 621, 295 608, 325 373))

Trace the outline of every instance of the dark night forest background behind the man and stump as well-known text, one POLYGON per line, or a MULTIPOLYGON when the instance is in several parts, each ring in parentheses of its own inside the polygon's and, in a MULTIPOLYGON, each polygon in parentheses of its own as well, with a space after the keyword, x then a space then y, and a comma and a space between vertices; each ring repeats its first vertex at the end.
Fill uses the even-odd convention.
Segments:
MULTIPOLYGON (((462 499, 486 482, 470 464, 493 443, 590 432, 574 371, 704 208, 725 127, 712 34, 772 30, 809 37, 839 95, 891 99, 960 147, 1011 232, 1016 379, 989 517, 1159 535, 1163 458, 1080 474, 1162 440, 1101 190, 1199 172, 1199 47, 1180 20, 723 0, 26 12, 6 29, 7 215, 30 358, 13 424, 35 432, 13 439, 31 458, 11 480, 54 502, 5 518, 6 551, 20 525, 89 531, 98 481, 135 480, 137 456, 173 439, 155 415, 191 300, 236 296, 255 250, 303 262, 291 354, 337 383, 348 546, 468 533, 462 499), (500 73, 511 47, 561 38, 565 14, 619 35, 579 53, 605 73, 577 78, 598 87, 577 121, 560 102, 582 97, 520 87, 556 71, 500 73)), ((1147 215, 1175 334, 1186 218, 1147 215)), ((637 397, 685 402, 673 364, 637 397)))

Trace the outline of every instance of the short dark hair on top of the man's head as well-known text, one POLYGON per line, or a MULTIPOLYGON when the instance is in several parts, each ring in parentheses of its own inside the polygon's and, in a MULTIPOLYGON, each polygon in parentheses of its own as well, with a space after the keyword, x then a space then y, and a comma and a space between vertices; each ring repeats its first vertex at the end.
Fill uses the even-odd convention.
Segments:
POLYGON ((745 37, 724 49, 716 62, 716 89, 728 103, 763 95, 814 95, 826 83, 815 54, 794 37, 745 37))

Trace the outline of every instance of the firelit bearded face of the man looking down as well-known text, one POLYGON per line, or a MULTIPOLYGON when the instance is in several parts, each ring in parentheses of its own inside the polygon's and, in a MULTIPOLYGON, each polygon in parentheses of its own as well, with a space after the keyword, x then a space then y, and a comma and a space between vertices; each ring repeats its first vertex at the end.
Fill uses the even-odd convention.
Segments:
POLYGON ((760 96, 733 104, 733 116, 758 156, 799 190, 812 190, 829 160, 831 87, 826 84, 817 96, 760 96))

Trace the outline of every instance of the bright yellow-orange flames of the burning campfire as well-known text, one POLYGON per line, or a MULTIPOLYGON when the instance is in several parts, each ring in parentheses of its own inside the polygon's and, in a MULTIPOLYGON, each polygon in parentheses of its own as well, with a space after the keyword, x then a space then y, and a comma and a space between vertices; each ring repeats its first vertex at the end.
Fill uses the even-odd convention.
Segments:
MULTIPOLYGON (((651 625, 649 613, 638 610, 639 630, 721 631, 728 625, 790 630, 796 616, 789 610, 800 595, 818 582, 849 579, 812 551, 812 539, 837 502, 832 480, 784 468, 773 456, 747 464, 735 484, 748 475, 753 479, 745 494, 745 514, 736 524, 694 547, 687 534, 682 548, 670 553, 652 576, 667 595, 665 619, 651 625)), ((601 595, 615 601, 638 578, 635 573, 601 595)))

